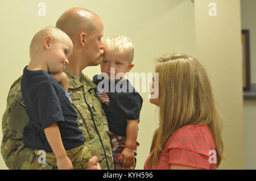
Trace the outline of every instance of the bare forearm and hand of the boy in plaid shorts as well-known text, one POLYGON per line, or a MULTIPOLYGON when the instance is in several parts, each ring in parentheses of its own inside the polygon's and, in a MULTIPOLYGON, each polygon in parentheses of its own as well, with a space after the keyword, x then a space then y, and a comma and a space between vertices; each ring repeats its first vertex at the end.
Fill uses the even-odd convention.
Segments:
POLYGON ((127 120, 126 127, 126 144, 123 149, 120 162, 123 163, 123 167, 130 167, 134 165, 134 148, 138 135, 138 119, 127 120))

